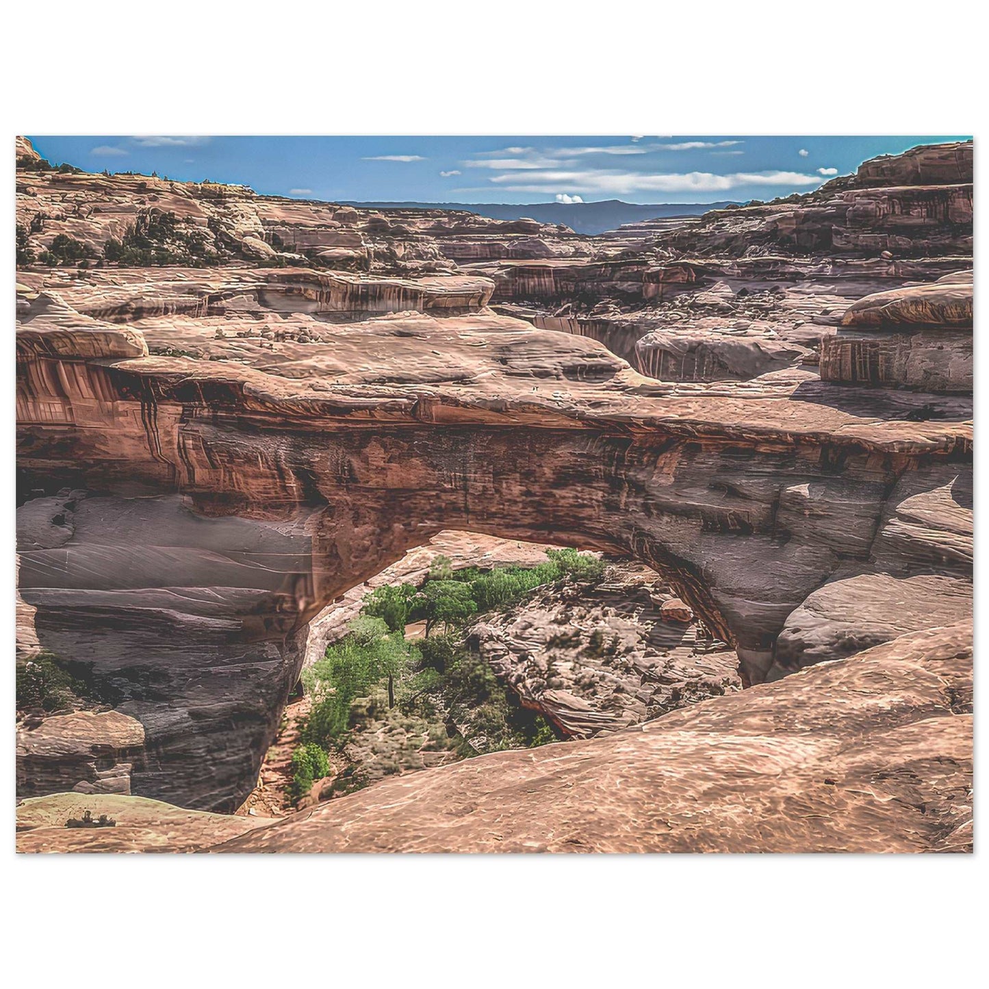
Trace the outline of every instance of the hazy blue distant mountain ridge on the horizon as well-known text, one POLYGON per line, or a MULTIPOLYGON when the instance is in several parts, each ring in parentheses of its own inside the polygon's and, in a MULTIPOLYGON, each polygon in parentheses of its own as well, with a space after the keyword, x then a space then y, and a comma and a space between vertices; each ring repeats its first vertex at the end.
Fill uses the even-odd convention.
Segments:
POLYGON ((520 220, 529 217, 541 224, 564 224, 577 233, 604 233, 622 224, 667 217, 698 217, 709 210, 721 210, 722 203, 623 203, 619 199, 599 203, 359 203, 344 206, 365 210, 460 210, 493 220, 520 220))

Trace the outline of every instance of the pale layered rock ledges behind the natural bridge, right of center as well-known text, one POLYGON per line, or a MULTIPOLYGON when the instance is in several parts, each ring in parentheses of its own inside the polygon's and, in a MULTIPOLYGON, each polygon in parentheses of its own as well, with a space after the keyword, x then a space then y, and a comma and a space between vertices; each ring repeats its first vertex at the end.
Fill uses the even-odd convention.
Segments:
MULTIPOLYGON (((816 365, 822 341, 863 297, 944 276, 965 258, 680 259, 647 268, 641 299, 593 307, 498 304, 544 329, 588 336, 664 381, 748 381, 816 365)), ((958 277, 963 277, 960 273, 958 277)), ((969 276, 970 277, 970 276, 969 276)))

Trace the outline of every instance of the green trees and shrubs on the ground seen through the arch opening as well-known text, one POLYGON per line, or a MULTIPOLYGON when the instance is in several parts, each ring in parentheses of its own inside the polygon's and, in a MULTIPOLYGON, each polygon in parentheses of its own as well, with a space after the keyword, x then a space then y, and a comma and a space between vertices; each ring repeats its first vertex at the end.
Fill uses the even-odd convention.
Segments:
MULTIPOLYGON (((522 707, 465 634, 477 615, 511 607, 538 586, 597 584, 604 574, 602 561, 573 549, 547 557, 538 567, 487 572, 454 572, 438 557, 421 587, 392 584, 365 597, 347 634, 303 674, 314 702, 302 727, 303 748, 328 751, 334 763, 342 762, 335 791, 437 764, 430 753, 466 758, 558 739, 541 714, 522 707), (419 621, 425 637, 406 640, 405 627, 419 621)), ((313 784, 305 757, 300 761, 297 799, 313 784)))

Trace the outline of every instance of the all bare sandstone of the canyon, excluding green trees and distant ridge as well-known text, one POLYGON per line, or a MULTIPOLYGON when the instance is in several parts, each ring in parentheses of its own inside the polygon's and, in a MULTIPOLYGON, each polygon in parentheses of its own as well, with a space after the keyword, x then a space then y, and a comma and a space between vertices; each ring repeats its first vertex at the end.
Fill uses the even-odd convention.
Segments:
POLYGON ((588 236, 19 138, 17 224, 19 851, 972 851, 971 142, 588 236), (289 795, 376 589, 560 547, 511 732, 289 795))

